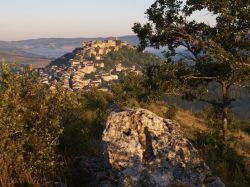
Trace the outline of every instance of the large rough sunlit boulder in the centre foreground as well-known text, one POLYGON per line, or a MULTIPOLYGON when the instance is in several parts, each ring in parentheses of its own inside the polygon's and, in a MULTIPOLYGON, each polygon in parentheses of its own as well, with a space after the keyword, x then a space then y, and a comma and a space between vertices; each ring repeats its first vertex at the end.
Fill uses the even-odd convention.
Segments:
POLYGON ((103 142, 106 168, 117 186, 224 186, 179 124, 148 110, 111 113, 103 142))

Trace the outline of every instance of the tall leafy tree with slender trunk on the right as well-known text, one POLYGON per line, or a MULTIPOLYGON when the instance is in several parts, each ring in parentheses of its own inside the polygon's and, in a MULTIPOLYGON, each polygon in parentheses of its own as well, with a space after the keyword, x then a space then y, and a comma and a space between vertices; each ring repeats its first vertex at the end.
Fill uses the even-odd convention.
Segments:
MULTIPOLYGON (((228 131, 228 111, 234 101, 229 90, 244 86, 250 79, 250 1, 249 0, 156 0, 146 11, 148 23, 135 23, 140 49, 167 47, 166 57, 184 47, 182 61, 190 63, 188 74, 181 77, 189 86, 207 90, 217 82, 220 98, 207 100, 221 108, 223 136, 228 131), (191 20, 195 11, 208 10, 216 16, 211 26, 191 20)), ((192 95, 202 98, 206 92, 192 95)))

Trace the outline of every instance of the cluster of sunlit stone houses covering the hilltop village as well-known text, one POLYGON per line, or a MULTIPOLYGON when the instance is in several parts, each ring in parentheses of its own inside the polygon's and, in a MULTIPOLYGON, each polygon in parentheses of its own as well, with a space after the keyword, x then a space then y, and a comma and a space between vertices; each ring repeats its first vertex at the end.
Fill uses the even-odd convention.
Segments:
POLYGON ((82 48, 77 50, 69 65, 53 65, 40 70, 40 77, 44 84, 54 88, 57 83, 68 90, 109 91, 110 85, 119 81, 128 72, 141 73, 136 66, 124 67, 115 65, 112 69, 105 68, 104 57, 111 51, 118 51, 122 47, 130 47, 127 42, 120 40, 83 42, 82 48))

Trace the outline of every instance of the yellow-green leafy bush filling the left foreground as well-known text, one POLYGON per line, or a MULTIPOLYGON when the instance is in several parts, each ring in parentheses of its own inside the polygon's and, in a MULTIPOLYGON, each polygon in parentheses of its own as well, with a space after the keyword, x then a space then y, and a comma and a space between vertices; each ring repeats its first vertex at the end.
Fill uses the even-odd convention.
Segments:
POLYGON ((16 182, 24 180, 16 169, 41 180, 55 177, 63 166, 57 146, 63 133, 61 107, 66 93, 44 88, 29 67, 14 72, 2 64, 0 72, 1 162, 8 160, 15 166, 9 177, 16 182))

